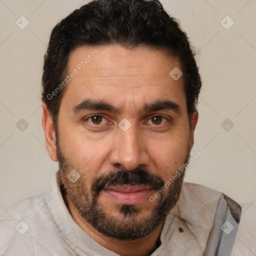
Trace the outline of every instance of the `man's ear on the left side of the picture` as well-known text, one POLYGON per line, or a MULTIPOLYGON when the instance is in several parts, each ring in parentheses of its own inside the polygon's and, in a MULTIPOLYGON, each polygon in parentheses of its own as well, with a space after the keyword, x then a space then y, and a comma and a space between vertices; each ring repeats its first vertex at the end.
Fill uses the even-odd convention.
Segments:
POLYGON ((42 104, 42 127, 45 135, 45 145, 49 157, 53 161, 58 161, 56 150, 56 135, 51 115, 45 103, 42 104))

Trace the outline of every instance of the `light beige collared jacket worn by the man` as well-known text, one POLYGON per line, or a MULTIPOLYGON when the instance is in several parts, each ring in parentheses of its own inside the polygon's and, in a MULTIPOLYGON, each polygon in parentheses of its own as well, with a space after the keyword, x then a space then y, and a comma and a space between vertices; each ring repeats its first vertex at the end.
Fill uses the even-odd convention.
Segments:
MULTIPOLYGON (((165 220, 160 235, 161 245, 152 256, 204 255, 221 196, 222 193, 210 188, 184 182, 178 203, 165 220)), ((256 255, 255 217, 255 201, 242 205, 232 256, 256 255)), ((222 236, 221 232, 227 229, 230 231, 230 226, 215 228, 218 236, 222 236)), ((234 234, 234 231, 229 234, 234 234)), ((229 234, 225 234, 225 237, 231 237, 229 234)), ((213 245, 214 240, 208 244, 213 245)), ((218 253, 216 255, 230 255, 221 251, 218 253)), ((47 192, 1 210, 0 255, 117 256, 95 242, 74 222, 65 206, 55 175, 47 192)))

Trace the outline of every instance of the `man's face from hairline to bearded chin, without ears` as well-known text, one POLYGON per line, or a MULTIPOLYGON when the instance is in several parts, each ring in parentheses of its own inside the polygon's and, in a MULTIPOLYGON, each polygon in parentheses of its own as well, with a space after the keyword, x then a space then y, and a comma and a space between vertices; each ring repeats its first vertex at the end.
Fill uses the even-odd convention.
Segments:
POLYGON ((78 72, 59 108, 59 178, 83 219, 107 236, 147 235, 178 199, 183 175, 166 182, 187 161, 193 129, 182 76, 169 75, 174 67, 181 70, 177 59, 149 47, 80 46, 70 53, 66 73, 78 72), (80 175, 75 182, 67 178, 72 169, 80 175))

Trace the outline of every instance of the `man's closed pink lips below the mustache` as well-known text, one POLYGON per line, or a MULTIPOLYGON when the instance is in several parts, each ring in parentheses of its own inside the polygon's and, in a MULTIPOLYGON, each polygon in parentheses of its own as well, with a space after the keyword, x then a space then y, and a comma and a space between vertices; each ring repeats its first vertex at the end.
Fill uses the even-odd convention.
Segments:
POLYGON ((132 205, 148 199, 152 188, 145 185, 110 186, 103 192, 118 204, 132 205))

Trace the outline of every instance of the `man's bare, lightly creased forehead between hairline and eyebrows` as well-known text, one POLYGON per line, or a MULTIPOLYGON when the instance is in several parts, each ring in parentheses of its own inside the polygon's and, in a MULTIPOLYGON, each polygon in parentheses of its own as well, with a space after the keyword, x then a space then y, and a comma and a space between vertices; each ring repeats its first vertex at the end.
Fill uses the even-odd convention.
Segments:
POLYGON ((184 101, 183 77, 174 80, 169 75, 173 68, 181 70, 178 59, 162 49, 79 46, 68 58, 66 74, 74 75, 66 85, 63 99, 70 104, 85 97, 114 98, 116 104, 127 99, 143 104, 152 97, 184 101))

